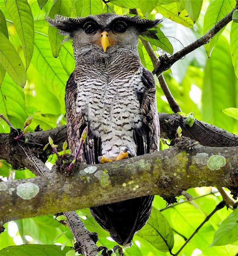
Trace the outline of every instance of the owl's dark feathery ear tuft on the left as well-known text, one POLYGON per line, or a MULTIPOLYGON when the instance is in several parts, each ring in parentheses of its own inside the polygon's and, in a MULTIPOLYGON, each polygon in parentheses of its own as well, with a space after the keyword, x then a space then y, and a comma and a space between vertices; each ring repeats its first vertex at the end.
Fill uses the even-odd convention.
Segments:
POLYGON ((73 32, 79 29, 84 23, 84 17, 69 18, 61 15, 55 15, 55 19, 46 17, 49 24, 57 29, 60 29, 61 35, 72 35, 73 32))

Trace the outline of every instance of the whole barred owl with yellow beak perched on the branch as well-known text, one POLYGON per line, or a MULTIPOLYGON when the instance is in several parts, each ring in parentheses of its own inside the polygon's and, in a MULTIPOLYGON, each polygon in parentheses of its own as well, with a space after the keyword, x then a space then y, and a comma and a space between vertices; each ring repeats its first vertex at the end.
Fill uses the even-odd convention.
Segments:
MULTIPOLYGON (((137 45, 140 35, 156 37, 151 28, 161 20, 109 13, 47 20, 73 41, 75 70, 65 92, 71 154, 86 126, 81 157, 87 164, 158 151, 155 82, 141 64, 137 45)), ((90 211, 114 241, 128 247, 148 220, 153 199, 143 196, 90 211)))

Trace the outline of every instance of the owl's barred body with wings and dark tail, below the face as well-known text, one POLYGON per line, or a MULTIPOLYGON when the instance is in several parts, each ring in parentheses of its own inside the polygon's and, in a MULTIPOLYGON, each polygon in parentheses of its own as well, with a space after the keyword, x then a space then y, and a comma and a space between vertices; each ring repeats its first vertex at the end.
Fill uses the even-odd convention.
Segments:
MULTIPOLYGON (((109 47, 110 49, 110 47, 109 47)), ((102 154, 118 154, 129 147, 134 155, 159 148, 159 119, 155 83, 140 64, 136 49, 113 49, 107 55, 91 49, 76 63, 66 87, 67 131, 75 154, 84 127, 87 164, 102 154), (99 56, 100 55, 100 56, 99 56), (100 58, 99 58, 100 57, 100 58)), ((119 244, 130 244, 151 212, 153 196, 91 208, 99 224, 119 244)))

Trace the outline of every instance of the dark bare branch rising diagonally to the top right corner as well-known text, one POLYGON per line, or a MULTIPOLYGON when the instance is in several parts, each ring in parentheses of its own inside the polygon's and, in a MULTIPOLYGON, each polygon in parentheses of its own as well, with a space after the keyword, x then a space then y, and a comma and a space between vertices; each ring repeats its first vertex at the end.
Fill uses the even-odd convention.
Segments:
POLYGON ((168 70, 176 61, 180 60, 186 56, 189 52, 194 51, 195 49, 201 47, 204 44, 209 43, 209 41, 225 27, 230 21, 232 21, 232 14, 235 10, 238 9, 238 3, 236 3, 235 8, 227 14, 223 19, 216 23, 211 29, 206 32, 201 38, 194 41, 192 44, 189 44, 180 51, 174 53, 170 57, 167 55, 160 56, 160 61, 157 64, 157 67, 154 69, 153 73, 157 76, 160 76, 165 70, 168 70))

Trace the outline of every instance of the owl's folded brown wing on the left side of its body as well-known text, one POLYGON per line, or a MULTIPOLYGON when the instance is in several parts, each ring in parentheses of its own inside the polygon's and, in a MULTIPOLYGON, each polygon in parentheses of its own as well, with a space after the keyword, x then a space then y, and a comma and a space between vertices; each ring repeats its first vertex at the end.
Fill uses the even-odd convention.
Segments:
MULTIPOLYGON (((70 75, 65 89, 65 103, 67 115, 67 134, 71 154, 76 154, 79 139, 82 131, 88 125, 81 113, 76 113, 76 99, 78 96, 77 84, 75 82, 74 73, 70 75)), ((87 164, 98 163, 98 156, 101 155, 101 141, 99 138, 93 137, 90 129, 88 136, 81 150, 81 157, 87 164)))

